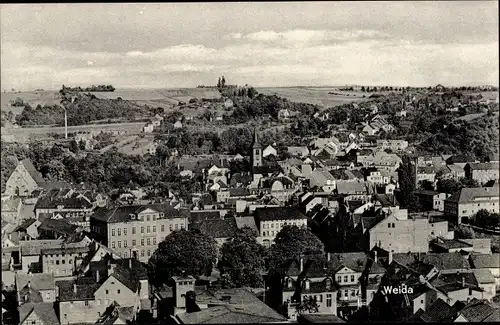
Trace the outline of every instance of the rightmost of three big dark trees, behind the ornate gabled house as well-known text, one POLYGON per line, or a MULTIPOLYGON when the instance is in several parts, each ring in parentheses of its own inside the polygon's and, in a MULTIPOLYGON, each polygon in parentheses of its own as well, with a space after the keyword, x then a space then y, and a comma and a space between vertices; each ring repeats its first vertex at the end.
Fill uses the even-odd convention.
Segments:
POLYGON ((269 252, 270 273, 281 275, 281 267, 287 260, 317 255, 323 251, 323 243, 309 229, 285 225, 276 235, 269 252))

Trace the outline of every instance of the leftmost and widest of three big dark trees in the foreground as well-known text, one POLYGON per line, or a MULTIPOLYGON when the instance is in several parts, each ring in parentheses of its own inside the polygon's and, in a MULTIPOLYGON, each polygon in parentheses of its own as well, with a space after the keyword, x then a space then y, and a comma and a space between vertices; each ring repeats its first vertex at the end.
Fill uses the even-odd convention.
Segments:
POLYGON ((175 275, 210 275, 217 258, 217 243, 195 230, 178 230, 160 242, 148 262, 152 283, 161 285, 175 275))

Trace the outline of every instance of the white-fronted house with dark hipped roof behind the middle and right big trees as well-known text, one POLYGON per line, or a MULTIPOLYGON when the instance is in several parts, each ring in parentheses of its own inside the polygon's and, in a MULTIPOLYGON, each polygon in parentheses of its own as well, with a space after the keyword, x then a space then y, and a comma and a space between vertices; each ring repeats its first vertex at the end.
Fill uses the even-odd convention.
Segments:
POLYGON ((307 226, 307 216, 294 207, 266 207, 255 209, 255 223, 259 240, 270 246, 278 232, 286 225, 307 226))

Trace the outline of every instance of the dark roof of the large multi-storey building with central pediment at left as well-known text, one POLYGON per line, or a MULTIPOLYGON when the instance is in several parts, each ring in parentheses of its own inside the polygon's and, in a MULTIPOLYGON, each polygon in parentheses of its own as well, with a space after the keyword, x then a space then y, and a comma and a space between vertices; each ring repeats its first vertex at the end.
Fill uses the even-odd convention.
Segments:
POLYGON ((131 215, 137 216, 146 209, 153 209, 164 214, 164 218, 186 218, 189 217, 189 210, 177 210, 167 204, 146 204, 118 206, 114 208, 99 208, 91 216, 93 219, 117 223, 131 221, 131 215))

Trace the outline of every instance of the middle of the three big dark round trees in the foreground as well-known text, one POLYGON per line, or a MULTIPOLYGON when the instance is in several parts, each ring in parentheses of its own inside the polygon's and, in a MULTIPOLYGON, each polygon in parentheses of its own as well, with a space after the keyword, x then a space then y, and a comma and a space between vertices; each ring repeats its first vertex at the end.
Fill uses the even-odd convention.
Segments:
POLYGON ((257 243, 257 233, 244 227, 222 246, 219 270, 240 287, 262 287, 265 248, 257 243))

